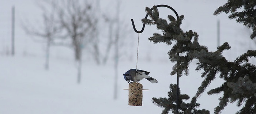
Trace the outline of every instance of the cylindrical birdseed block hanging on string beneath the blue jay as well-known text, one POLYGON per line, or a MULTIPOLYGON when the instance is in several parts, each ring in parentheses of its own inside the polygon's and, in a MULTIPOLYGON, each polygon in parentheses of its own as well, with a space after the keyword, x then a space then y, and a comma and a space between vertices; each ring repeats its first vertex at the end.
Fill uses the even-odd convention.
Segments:
POLYGON ((132 82, 129 84, 129 102, 130 106, 142 106, 142 84, 132 82))

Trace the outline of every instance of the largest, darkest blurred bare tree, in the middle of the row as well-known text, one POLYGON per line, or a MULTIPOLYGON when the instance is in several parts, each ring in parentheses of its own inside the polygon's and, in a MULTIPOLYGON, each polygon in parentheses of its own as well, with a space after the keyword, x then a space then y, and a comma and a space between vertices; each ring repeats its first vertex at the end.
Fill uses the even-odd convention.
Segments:
POLYGON ((75 60, 78 62, 78 80, 81 79, 82 48, 92 41, 92 31, 95 29, 97 19, 94 19, 92 3, 79 0, 61 0, 58 7, 58 15, 61 27, 71 38, 75 52, 75 60))

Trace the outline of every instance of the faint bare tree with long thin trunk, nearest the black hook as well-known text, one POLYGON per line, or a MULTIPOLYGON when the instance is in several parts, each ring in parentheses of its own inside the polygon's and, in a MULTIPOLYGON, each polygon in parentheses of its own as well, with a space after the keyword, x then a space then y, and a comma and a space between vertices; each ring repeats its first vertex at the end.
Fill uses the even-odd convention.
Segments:
MULTIPOLYGON (((113 66, 113 72, 114 72, 114 93, 113 98, 118 98, 118 65, 120 62, 121 57, 127 57, 128 53, 126 53, 127 50, 129 50, 129 47, 131 45, 129 42, 133 40, 127 41, 126 39, 129 37, 127 33, 131 33, 131 29, 127 28, 127 23, 123 22, 120 18, 120 7, 121 2, 120 0, 116 0, 116 6, 115 8, 115 14, 113 17, 109 15, 103 15, 103 19, 106 23, 108 23, 108 37, 106 38, 107 41, 105 42, 105 50, 103 53, 102 63, 106 64, 108 59, 111 57, 113 58, 114 66, 113 66), (122 37, 120 37, 120 34, 122 34, 122 37), (124 46, 129 45, 125 48, 124 46), (122 56, 125 55, 125 56, 122 56)), ((113 12, 112 12, 113 13, 113 12)), ((107 14, 107 13, 105 13, 107 14)), ((130 23, 129 23, 130 24, 130 23)))

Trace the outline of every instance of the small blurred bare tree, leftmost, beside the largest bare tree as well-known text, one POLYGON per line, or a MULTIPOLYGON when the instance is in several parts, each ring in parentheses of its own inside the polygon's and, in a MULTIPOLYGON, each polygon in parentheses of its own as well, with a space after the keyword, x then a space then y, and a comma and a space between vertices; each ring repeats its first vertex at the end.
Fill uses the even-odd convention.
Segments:
POLYGON ((43 27, 42 29, 37 29, 38 27, 31 26, 28 22, 22 24, 22 27, 27 34, 33 36, 39 36, 46 41, 46 57, 45 57, 45 69, 49 69, 49 56, 50 56, 50 46, 53 43, 54 37, 60 33, 60 29, 56 25, 56 2, 54 0, 43 0, 38 1, 38 5, 42 10, 43 27))

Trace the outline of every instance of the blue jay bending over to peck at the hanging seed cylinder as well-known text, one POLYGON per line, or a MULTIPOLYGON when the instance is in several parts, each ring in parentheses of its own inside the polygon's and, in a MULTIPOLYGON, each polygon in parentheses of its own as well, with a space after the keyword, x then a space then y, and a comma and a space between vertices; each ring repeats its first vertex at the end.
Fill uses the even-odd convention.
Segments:
MULTIPOLYGON (((128 83, 131 83, 131 81, 135 81, 135 72, 136 72, 136 69, 130 69, 129 71, 125 72, 123 74, 124 75, 124 79, 128 83)), ((145 78, 148 81, 150 81, 151 83, 157 83, 157 80, 154 79, 153 77, 148 76, 148 74, 149 74, 149 72, 147 72, 147 71, 142 71, 142 70, 137 69, 136 81, 140 81, 143 78, 145 78)))

